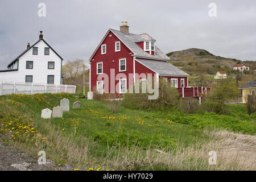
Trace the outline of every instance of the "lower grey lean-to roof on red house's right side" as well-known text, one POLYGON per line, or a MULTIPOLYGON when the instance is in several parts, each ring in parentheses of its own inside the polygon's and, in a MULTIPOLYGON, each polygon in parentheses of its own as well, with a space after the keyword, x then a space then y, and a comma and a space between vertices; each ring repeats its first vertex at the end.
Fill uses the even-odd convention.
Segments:
POLYGON ((185 73, 181 69, 175 67, 167 61, 154 61, 154 60, 145 60, 145 59, 135 59, 138 63, 141 63, 148 69, 151 69, 155 73, 158 73, 159 76, 189 76, 188 73, 185 73))

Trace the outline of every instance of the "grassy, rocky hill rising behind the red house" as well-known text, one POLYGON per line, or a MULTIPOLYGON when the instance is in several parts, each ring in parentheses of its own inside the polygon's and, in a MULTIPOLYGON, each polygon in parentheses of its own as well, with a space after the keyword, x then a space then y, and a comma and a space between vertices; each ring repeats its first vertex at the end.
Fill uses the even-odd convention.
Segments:
POLYGON ((192 85, 199 84, 202 80, 213 80, 217 71, 225 71, 229 76, 235 76, 236 72, 232 71, 232 66, 237 63, 246 64, 252 70, 241 75, 238 86, 256 79, 256 73, 253 71, 256 69, 255 61, 216 56, 207 50, 198 48, 169 52, 166 55, 170 57, 170 63, 191 75, 189 78, 192 85))

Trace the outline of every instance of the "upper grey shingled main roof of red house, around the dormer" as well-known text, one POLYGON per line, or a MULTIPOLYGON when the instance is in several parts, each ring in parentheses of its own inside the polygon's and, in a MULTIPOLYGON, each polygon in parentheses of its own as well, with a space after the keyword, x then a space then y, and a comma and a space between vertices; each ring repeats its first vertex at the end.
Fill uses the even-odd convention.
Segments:
POLYGON ((151 58, 151 59, 169 60, 169 57, 167 57, 166 54, 163 53, 156 46, 155 46, 155 55, 150 55, 149 53, 147 53, 141 47, 138 46, 137 42, 142 42, 142 41, 145 41, 145 40, 154 41, 155 42, 155 39, 153 39, 148 34, 139 34, 139 35, 136 35, 136 34, 125 34, 122 31, 114 30, 112 28, 109 28, 109 30, 112 31, 113 34, 115 36, 117 36, 118 39, 120 39, 123 42, 123 44, 125 44, 131 50, 131 52, 134 53, 134 55, 136 55, 136 56, 144 56, 144 57, 148 57, 148 58, 151 58))

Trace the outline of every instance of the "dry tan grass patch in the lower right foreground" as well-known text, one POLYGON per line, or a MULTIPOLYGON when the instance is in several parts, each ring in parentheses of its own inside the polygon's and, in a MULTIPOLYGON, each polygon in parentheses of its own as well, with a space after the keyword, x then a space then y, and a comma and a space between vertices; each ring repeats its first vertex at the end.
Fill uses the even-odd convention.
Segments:
POLYGON ((176 146, 173 151, 150 150, 133 147, 122 152, 110 148, 105 163, 115 169, 167 169, 167 170, 255 170, 256 136, 230 131, 208 131, 209 143, 176 146), (118 151, 118 152, 117 152, 118 151), (209 151, 217 152, 217 164, 208 163, 209 151))

